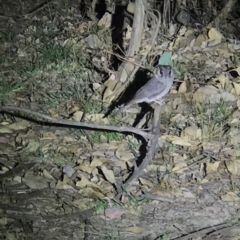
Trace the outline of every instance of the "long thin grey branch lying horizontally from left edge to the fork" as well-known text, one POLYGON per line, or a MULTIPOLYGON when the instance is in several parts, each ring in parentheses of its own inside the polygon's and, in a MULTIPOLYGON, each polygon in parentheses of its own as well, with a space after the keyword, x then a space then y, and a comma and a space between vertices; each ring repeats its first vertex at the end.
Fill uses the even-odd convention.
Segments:
POLYGON ((18 115, 20 117, 32 119, 34 121, 42 122, 42 123, 58 124, 58 125, 67 126, 67 127, 90 128, 95 130, 130 132, 130 133, 140 135, 145 139, 150 139, 152 137, 150 133, 134 127, 116 127, 111 125, 100 125, 95 123, 76 122, 76 121, 67 120, 67 119, 57 119, 42 113, 34 112, 32 110, 29 110, 26 108, 20 108, 20 107, 1 106, 0 112, 6 112, 13 115, 18 115))

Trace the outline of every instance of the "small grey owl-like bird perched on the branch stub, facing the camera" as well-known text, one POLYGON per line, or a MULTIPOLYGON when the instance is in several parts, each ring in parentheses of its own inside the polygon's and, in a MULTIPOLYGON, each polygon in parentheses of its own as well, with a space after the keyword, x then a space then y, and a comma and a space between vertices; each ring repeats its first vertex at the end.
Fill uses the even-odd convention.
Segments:
POLYGON ((158 104, 162 104, 164 102, 162 98, 170 91, 173 79, 174 74, 169 65, 158 65, 154 76, 136 92, 127 104, 121 105, 113 116, 137 103, 157 102, 158 104))

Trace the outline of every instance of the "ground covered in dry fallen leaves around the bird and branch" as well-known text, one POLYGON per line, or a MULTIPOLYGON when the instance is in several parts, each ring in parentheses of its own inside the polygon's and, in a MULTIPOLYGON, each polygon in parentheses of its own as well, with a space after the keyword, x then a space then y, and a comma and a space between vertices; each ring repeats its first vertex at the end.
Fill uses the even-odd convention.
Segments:
MULTIPOLYGON (((137 108, 116 118, 101 112, 124 82, 109 67, 111 11, 97 21, 96 1, 86 8, 90 19, 75 1, 50 1, 33 13, 40 5, 25 4, 12 15, 6 3, 1 16, 2 103, 54 118, 133 125, 137 108)), ((1 237, 235 239, 230 237, 240 234, 240 42, 214 27, 200 31, 170 23, 152 46, 151 29, 145 27, 139 53, 121 60, 153 70, 154 59, 171 52, 176 77, 161 114, 161 148, 144 174, 116 199, 116 186, 147 151, 141 149, 143 139, 2 114, 1 237)), ((126 29, 125 49, 132 32, 128 23, 126 29)), ((148 112, 138 128, 149 118, 148 112)))

